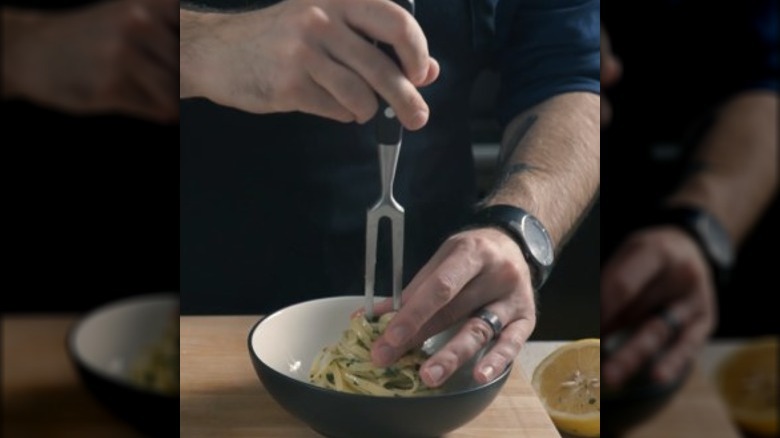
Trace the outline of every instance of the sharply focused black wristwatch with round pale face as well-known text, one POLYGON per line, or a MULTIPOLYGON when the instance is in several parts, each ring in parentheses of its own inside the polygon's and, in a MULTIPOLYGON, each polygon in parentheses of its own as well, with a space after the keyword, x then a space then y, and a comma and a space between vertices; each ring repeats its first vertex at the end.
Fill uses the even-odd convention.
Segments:
POLYGON ((519 207, 492 205, 477 210, 468 228, 496 227, 517 242, 531 270, 531 285, 539 290, 555 262, 555 246, 541 221, 519 207))

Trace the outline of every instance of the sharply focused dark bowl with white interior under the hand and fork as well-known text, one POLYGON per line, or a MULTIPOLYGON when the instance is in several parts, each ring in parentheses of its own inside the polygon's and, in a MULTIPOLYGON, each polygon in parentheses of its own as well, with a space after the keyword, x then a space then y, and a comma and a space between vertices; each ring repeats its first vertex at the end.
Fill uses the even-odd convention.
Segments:
MULTIPOLYGON (((483 351, 461 367, 441 391, 413 397, 338 392, 308 381, 317 353, 338 342, 362 296, 306 301, 258 321, 249 332, 249 355, 268 393, 293 416, 331 438, 422 438, 442 436, 474 419, 498 395, 511 364, 496 379, 480 384, 472 369, 483 351)), ((458 327, 425 343, 441 348, 458 327)))

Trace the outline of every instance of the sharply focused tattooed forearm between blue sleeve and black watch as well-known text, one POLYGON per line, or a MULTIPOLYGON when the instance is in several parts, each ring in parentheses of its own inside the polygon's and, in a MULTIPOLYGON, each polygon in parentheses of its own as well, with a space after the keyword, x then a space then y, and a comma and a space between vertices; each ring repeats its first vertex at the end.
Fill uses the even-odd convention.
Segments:
POLYGON ((502 140, 501 177, 484 205, 522 207, 563 244, 599 187, 599 96, 567 93, 517 116, 502 140))

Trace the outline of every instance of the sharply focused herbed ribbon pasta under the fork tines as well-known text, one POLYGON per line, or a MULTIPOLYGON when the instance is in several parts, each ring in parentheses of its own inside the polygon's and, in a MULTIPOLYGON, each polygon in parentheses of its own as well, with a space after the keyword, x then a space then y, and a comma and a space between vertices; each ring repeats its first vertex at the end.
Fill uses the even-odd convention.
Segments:
POLYGON ((415 349, 387 368, 371 363, 371 345, 382 334, 395 313, 386 313, 369 322, 363 315, 350 320, 339 342, 320 351, 311 366, 315 385, 353 394, 414 396, 435 390, 420 380, 420 365, 428 356, 415 349))

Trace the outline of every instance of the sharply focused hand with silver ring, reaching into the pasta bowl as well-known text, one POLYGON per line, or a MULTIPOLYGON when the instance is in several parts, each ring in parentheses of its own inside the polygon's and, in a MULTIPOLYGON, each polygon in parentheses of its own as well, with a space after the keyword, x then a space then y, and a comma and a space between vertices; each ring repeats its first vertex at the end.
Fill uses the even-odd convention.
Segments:
MULTIPOLYGON (((484 228, 450 237, 407 286, 402 307, 373 345, 377 366, 387 366, 425 339, 486 308, 504 329, 477 363, 474 378, 487 383, 517 357, 536 325, 536 304, 528 265, 517 243, 501 231, 484 228)), ((385 301, 376 313, 392 310, 385 301)), ((420 368, 437 387, 493 339, 484 321, 469 318, 441 350, 420 368)))

